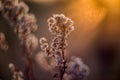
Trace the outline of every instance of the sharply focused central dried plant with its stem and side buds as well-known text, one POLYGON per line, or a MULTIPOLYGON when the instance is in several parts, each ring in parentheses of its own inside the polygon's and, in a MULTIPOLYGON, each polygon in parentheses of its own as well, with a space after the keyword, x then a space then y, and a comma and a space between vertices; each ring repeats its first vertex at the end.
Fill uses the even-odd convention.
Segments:
POLYGON ((52 43, 48 45, 46 38, 40 39, 41 49, 52 56, 56 61, 57 72, 54 80, 62 80, 67 68, 65 49, 67 48, 67 36, 74 30, 73 21, 63 14, 55 14, 48 19, 49 31, 54 35, 52 43))

